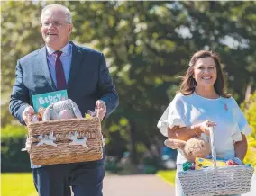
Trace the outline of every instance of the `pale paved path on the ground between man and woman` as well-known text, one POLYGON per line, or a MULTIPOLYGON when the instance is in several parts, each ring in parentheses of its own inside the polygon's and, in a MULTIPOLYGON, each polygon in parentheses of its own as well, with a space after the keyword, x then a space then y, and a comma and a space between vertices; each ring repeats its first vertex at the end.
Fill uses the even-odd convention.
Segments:
POLYGON ((105 176, 104 196, 175 196, 174 187, 156 175, 105 176))

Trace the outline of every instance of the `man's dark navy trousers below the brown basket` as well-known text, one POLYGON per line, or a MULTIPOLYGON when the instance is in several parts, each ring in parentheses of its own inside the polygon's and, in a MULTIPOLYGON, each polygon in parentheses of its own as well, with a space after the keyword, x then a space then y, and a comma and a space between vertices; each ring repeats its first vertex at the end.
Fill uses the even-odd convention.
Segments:
POLYGON ((102 196, 104 161, 46 165, 33 168, 33 181, 39 196, 102 196))

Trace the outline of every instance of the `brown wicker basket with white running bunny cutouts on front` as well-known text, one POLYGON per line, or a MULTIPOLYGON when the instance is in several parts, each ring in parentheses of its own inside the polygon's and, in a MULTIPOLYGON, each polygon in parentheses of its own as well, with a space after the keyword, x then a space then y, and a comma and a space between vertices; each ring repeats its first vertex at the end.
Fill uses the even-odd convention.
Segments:
POLYGON ((103 157, 98 118, 40 121, 28 125, 34 165, 68 164, 103 157))

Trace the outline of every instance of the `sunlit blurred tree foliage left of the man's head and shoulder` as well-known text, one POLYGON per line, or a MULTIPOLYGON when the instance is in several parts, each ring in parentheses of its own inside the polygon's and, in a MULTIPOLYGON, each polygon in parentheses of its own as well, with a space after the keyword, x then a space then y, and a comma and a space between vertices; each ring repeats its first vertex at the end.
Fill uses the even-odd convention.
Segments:
POLYGON ((1 121, 5 127, 11 123, 8 102, 14 85, 15 67, 19 58, 43 46, 40 29, 43 3, 26 1, 1 2, 1 121))

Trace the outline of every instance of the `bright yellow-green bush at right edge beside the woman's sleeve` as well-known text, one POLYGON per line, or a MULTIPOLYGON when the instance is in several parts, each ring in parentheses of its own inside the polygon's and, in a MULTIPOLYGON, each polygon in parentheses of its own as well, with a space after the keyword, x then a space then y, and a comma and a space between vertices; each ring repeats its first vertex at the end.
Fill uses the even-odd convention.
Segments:
POLYGON ((244 162, 256 166, 256 91, 251 94, 248 101, 242 103, 241 107, 252 129, 251 135, 247 138, 248 151, 244 162))

